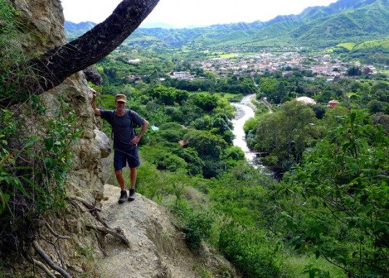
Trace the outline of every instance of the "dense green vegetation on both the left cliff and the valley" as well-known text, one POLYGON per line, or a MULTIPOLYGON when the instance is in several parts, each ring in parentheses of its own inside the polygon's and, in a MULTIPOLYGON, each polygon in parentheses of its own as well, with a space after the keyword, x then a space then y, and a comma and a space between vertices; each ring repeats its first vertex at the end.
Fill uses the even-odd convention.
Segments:
MULTIPOLYGON (((8 49, 0 56, 0 84, 12 98, 23 90, 6 82, 15 59, 25 58, 14 43, 22 40, 22 26, 13 21, 14 10, 0 10, 13 26, 6 32, 0 26, 0 46, 8 49)), ((388 77, 360 70, 328 82, 306 80, 312 73, 297 69, 285 76, 233 70, 219 76, 192 63, 204 55, 123 45, 96 65, 103 81, 90 86, 99 92, 98 106, 114 109, 115 95, 124 93, 127 106, 151 123, 140 142, 138 192, 176 213, 193 250, 205 240, 242 277, 388 277, 388 77), (204 79, 171 79, 177 71, 204 79), (263 153, 264 168, 248 165, 233 146, 230 102, 250 94, 256 94, 256 116, 245 132, 251 149, 263 153), (317 104, 295 100, 301 96, 317 104), (328 107, 332 99, 336 108, 328 107)), ((1 107, 0 263, 16 241, 14 231, 28 236, 38 214, 63 205, 68 146, 81 132, 61 99, 49 112, 35 97, 25 105, 33 120, 55 113, 42 122, 51 126, 42 138, 21 138, 17 131, 28 122, 1 107), (17 204, 15 195, 22 196, 17 204)), ((109 137, 110 127, 103 129, 109 137)))

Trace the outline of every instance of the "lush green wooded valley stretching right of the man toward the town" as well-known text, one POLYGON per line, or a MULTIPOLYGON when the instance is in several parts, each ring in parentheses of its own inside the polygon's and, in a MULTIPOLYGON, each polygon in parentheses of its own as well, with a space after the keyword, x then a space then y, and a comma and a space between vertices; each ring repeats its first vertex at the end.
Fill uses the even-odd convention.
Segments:
MULTIPOLYGON (((328 53, 321 66, 345 55, 328 53)), ((179 215, 190 244, 205 238, 245 277, 386 277, 385 63, 374 73, 366 65, 340 63, 332 79, 306 69, 317 63, 317 52, 304 54, 301 69, 254 75, 207 71, 198 63, 215 58, 215 69, 217 60, 236 67, 254 56, 246 55, 122 46, 97 64, 104 79, 96 87, 100 105, 113 107, 113 95, 124 92, 129 106, 158 127, 142 139, 140 193, 179 215), (176 71, 197 78, 174 79, 176 71), (228 101, 251 93, 256 117, 245 131, 263 169, 247 165, 232 145, 228 101), (315 104, 297 97, 311 97, 315 104)))

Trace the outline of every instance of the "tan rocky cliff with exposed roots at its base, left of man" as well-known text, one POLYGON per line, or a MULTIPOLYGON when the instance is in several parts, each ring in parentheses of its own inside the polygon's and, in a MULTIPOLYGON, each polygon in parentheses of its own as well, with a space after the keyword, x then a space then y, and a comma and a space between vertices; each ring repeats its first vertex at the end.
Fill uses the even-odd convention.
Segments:
MULTIPOLYGON (((60 0, 13 0, 12 3, 21 11, 28 32, 35 34, 22 46, 26 54, 42 54, 66 42, 60 0)), ((39 223, 38 238, 31 250, 25 250, 24 258, 17 258, 17 263, 9 269, 11 277, 31 272, 35 277, 50 277, 61 269, 78 277, 91 271, 85 264, 87 259, 104 257, 104 247, 97 240, 101 232, 88 227, 101 225, 98 220, 99 199, 104 189, 101 158, 110 154, 109 139, 99 131, 100 120, 94 117, 90 106, 92 95, 83 72, 44 92, 40 96, 41 104, 51 111, 51 108, 58 107, 58 96, 76 113, 76 128, 83 131, 78 143, 72 146, 72 167, 66 182, 69 198, 65 208, 55 214, 48 213, 39 223), (51 262, 45 261, 38 250, 44 252, 51 262), (51 268, 50 264, 58 266, 58 270, 51 268)))

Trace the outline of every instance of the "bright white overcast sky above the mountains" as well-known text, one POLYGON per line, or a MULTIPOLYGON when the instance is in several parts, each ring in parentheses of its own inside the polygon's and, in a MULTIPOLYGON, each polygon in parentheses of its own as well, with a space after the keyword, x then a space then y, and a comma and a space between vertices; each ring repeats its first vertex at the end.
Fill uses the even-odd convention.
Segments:
MULTIPOLYGON (((104 21, 122 0, 61 0, 65 19, 104 21)), ((328 6, 337 0, 160 0, 143 23, 164 23, 174 28, 235 22, 266 22, 277 15, 297 15, 304 8, 328 6)))

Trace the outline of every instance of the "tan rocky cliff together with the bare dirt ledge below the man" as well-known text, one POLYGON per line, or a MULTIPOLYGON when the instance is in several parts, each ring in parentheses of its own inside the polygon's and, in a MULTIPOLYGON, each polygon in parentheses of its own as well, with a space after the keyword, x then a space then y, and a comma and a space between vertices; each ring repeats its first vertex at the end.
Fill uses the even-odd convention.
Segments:
MULTIPOLYGON (((26 52, 44 53, 65 42, 60 0, 12 3, 37 34, 23 46, 26 52)), ((85 74, 78 72, 45 92, 42 105, 56 106, 59 95, 75 111, 77 128, 83 131, 72 146, 67 202, 58 212, 47 213, 30 250, 8 269, 11 277, 199 277, 209 265, 233 273, 223 259, 192 254, 171 215, 149 199, 138 195, 135 202, 117 204, 119 189, 103 185, 101 158, 109 156, 110 145, 90 106, 85 74)))

